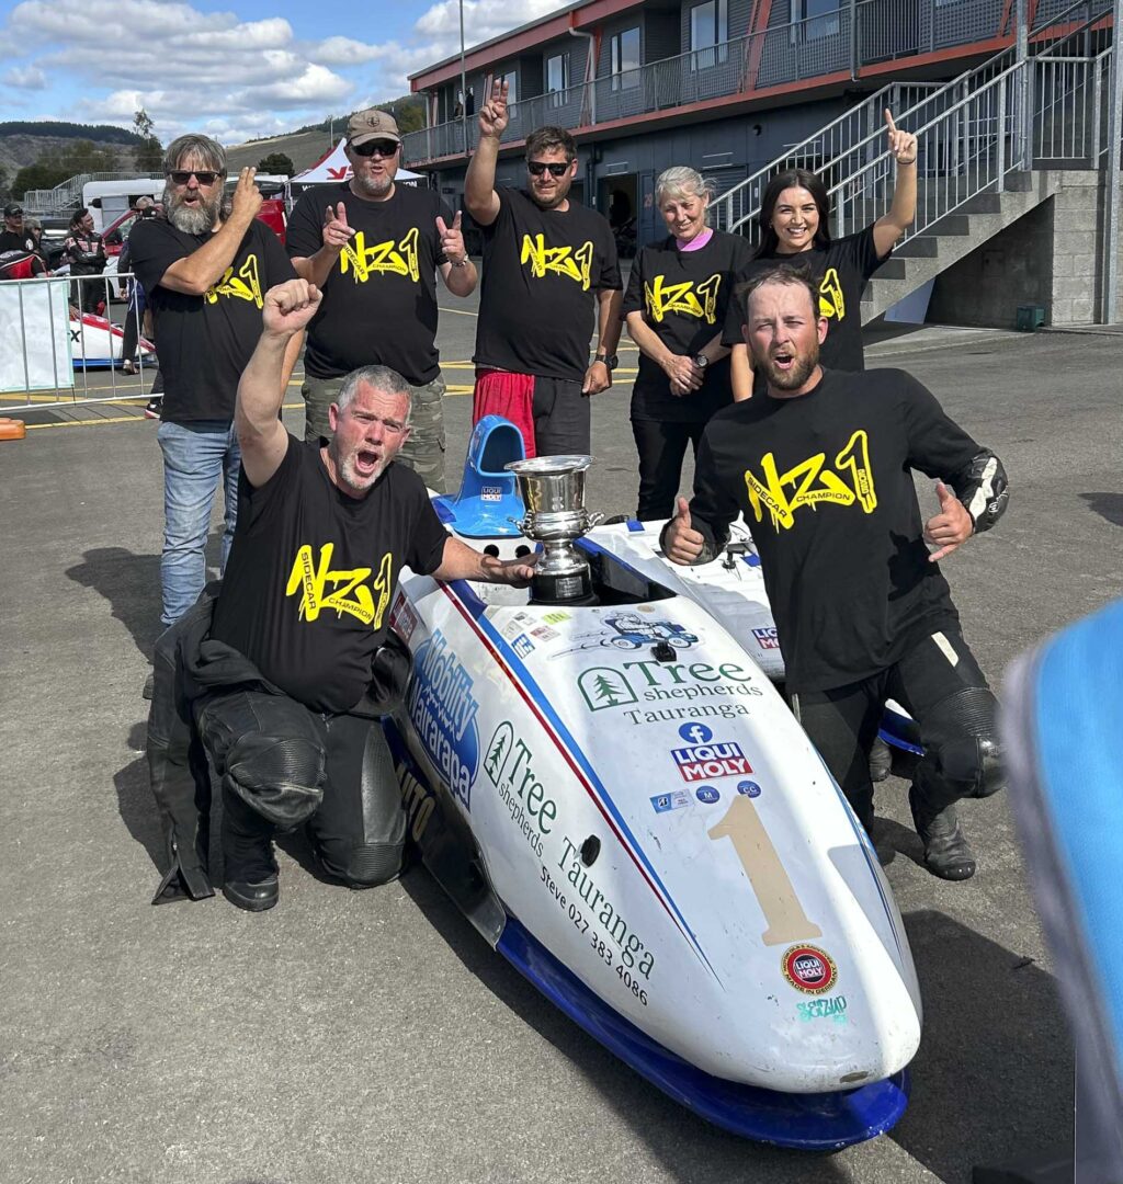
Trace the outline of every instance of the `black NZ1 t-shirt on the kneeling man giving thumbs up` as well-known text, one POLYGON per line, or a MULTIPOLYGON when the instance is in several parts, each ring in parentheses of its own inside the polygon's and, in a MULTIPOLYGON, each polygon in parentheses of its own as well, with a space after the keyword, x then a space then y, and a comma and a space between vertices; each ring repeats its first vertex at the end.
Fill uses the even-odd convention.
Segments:
POLYGON ((868 677, 957 620, 910 469, 946 481, 980 451, 896 369, 827 371, 808 394, 756 397, 710 420, 691 522, 721 539, 744 514, 792 690, 868 677))

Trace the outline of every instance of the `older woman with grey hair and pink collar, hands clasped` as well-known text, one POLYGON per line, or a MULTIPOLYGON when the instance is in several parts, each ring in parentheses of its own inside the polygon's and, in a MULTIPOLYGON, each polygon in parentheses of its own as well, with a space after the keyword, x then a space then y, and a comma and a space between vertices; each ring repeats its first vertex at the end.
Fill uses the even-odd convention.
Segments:
POLYGON ((721 327, 733 277, 752 252, 739 234, 707 225, 711 195, 693 168, 659 175, 655 204, 667 238, 640 251, 624 296, 628 333, 640 347, 631 391, 640 519, 674 513, 687 444, 697 453, 710 417, 733 400, 721 327))

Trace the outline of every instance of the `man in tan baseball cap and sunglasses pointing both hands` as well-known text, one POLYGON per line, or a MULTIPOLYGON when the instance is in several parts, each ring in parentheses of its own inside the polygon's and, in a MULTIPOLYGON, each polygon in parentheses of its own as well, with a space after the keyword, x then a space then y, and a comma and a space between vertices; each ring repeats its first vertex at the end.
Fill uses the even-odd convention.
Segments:
POLYGON ((304 352, 304 439, 329 439, 328 407, 360 366, 397 371, 412 392, 411 435, 398 453, 444 493, 444 380, 435 343, 441 272, 454 296, 476 287, 460 213, 432 189, 399 185, 402 136, 377 107, 347 123, 352 176, 316 186, 289 218, 297 272, 322 292, 304 352))

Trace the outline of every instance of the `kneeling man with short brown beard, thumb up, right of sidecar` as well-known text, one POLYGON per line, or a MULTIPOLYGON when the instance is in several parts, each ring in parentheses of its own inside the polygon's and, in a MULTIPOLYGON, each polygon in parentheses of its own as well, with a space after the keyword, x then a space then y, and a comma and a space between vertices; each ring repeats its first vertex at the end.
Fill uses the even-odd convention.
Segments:
POLYGON ((924 745, 909 803, 925 866, 967 880, 975 856, 955 803, 1001 789, 996 704, 937 560, 1002 515, 1002 463, 904 371, 823 369, 827 321, 806 272, 756 277, 745 320, 765 392, 710 420, 665 553, 706 562, 744 514, 792 708, 859 821, 873 824, 869 746, 894 699, 924 745), (924 525, 911 469, 938 478, 924 525))

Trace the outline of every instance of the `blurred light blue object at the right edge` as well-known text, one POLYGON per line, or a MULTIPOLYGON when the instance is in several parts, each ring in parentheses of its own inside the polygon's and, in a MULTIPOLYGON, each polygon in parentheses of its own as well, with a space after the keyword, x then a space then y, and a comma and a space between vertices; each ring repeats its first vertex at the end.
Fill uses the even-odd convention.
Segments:
POLYGON ((1077 1044, 1077 1180, 1123 1180, 1123 601, 1019 658, 1010 798, 1077 1044))

